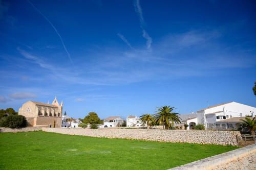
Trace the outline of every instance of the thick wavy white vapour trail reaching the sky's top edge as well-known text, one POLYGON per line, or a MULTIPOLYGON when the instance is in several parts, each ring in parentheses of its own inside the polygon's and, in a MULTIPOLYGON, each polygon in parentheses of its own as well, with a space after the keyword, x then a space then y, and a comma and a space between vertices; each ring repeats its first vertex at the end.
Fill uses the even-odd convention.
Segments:
POLYGON ((145 27, 145 21, 142 13, 142 9, 140 7, 140 1, 136 0, 134 3, 135 11, 137 12, 140 20, 140 27, 142 29, 142 36, 146 39, 146 47, 147 50, 151 51, 151 44, 153 42, 152 38, 150 35, 147 34, 146 30, 144 29, 145 27))

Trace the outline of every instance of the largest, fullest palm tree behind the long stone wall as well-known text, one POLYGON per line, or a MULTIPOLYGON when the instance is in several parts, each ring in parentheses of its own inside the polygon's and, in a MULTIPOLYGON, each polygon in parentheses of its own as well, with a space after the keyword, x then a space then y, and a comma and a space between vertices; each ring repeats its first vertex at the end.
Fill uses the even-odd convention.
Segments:
POLYGON ((179 113, 172 112, 175 108, 170 106, 158 107, 155 118, 157 123, 163 123, 165 129, 168 129, 170 126, 170 122, 180 123, 179 113))

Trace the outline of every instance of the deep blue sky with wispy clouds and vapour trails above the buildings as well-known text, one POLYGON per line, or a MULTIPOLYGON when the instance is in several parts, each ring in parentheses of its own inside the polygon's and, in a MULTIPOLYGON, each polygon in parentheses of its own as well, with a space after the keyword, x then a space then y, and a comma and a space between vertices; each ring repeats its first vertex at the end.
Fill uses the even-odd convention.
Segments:
POLYGON ((255 1, 0 1, 0 108, 73 117, 256 106, 255 1))

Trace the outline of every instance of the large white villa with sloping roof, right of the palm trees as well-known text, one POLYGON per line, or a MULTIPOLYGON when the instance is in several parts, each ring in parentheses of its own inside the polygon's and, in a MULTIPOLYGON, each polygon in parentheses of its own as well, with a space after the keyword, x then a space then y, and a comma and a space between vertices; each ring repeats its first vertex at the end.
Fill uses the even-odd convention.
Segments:
POLYGON ((204 124, 205 129, 233 129, 235 125, 233 122, 229 124, 228 119, 248 115, 253 117, 255 113, 255 107, 229 102, 198 110, 197 113, 181 114, 180 117, 182 123, 188 125, 187 129, 194 129, 197 124, 204 124))

